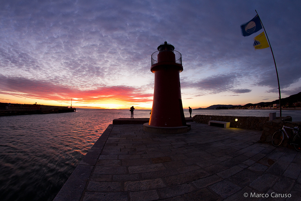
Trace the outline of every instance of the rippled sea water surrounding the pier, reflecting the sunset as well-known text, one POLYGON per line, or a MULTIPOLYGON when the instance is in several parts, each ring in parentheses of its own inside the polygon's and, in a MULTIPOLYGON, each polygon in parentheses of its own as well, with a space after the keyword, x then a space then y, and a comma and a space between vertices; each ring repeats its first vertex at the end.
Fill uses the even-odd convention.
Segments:
MULTIPOLYGON (((135 110, 134 117, 149 118, 149 112, 135 110)), ((192 115, 268 116, 269 112, 273 111, 193 110, 192 115)), ((282 113, 301 121, 301 111, 282 113)), ((112 120, 129 117, 129 110, 79 108, 71 113, 0 117, 0 199, 53 200, 112 120)))

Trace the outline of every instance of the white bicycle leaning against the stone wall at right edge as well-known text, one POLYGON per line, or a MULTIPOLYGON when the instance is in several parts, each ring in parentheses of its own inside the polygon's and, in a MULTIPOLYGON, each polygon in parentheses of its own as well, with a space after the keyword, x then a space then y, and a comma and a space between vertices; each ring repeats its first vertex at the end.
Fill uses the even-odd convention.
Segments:
MULTIPOLYGON (((284 122, 284 120, 282 120, 284 122)), ((279 146, 283 139, 284 139, 284 133, 285 135, 287 136, 287 139, 288 139, 288 143, 290 145, 294 145, 295 149, 298 151, 298 152, 301 152, 301 133, 299 132, 299 127, 287 127, 287 126, 284 126, 282 127, 282 129, 279 129, 277 130, 273 136, 272 136, 272 144, 273 146, 279 146), (287 132, 285 130, 285 128, 290 128, 290 129, 293 129, 293 133, 295 134, 295 136, 293 137, 293 140, 292 137, 289 137, 287 135, 287 132)))

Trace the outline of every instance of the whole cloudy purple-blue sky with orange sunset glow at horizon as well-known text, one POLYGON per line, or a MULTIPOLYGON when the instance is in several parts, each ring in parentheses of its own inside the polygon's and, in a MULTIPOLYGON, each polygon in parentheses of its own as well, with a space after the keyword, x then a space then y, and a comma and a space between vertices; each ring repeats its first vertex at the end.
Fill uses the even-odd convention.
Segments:
POLYGON ((278 99, 270 48, 240 25, 256 11, 281 97, 301 91, 300 1, 1 0, 0 102, 151 108, 151 54, 182 54, 183 107, 278 99))

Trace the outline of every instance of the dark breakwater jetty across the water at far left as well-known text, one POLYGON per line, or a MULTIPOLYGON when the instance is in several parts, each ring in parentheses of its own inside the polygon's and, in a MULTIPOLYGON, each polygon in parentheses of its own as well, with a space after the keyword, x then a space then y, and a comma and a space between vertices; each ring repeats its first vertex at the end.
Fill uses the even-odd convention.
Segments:
POLYGON ((51 114, 75 111, 76 108, 69 106, 1 103, 0 116, 51 114))

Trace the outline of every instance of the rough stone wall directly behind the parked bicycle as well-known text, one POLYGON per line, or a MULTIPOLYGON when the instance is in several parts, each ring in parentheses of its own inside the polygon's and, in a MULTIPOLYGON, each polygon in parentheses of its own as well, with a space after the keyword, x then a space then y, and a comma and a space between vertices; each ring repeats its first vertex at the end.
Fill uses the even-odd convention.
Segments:
MULTIPOLYGON (((277 118, 273 121, 267 121, 264 125, 262 135, 260 137, 259 142, 261 143, 272 143, 272 135, 275 133, 276 130, 279 130, 282 128, 282 126, 287 126, 287 127, 296 127, 299 126, 301 128, 301 122, 292 122, 291 117, 286 117, 286 118, 277 118), (281 121, 281 119, 284 119, 284 122, 281 121)), ((293 135, 293 129, 285 128, 287 131, 287 134, 289 137, 293 135)), ((281 143, 281 146, 287 147, 287 137, 284 137, 284 141, 281 143)))

